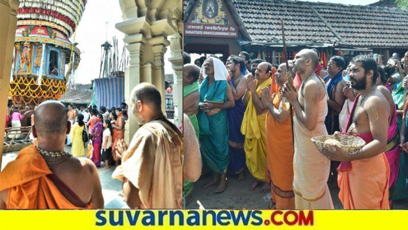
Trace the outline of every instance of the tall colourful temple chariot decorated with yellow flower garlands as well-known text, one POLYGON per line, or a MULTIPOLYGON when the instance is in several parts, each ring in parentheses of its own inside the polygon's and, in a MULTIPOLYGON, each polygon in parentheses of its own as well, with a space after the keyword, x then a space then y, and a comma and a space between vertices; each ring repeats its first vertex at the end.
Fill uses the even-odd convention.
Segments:
POLYGON ((20 0, 9 91, 13 104, 34 107, 65 93, 67 77, 81 60, 68 38, 85 5, 86 0, 20 0))

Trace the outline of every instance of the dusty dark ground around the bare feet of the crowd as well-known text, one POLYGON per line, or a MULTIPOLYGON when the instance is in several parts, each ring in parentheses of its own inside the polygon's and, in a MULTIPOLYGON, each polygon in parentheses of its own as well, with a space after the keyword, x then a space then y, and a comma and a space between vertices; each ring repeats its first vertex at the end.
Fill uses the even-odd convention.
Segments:
MULTIPOLYGON (((211 178, 210 175, 203 175, 194 184, 191 198, 188 198, 187 209, 198 209, 197 201, 206 209, 268 209, 270 192, 260 192, 261 186, 249 191, 254 179, 248 171, 245 172, 246 180, 243 182, 237 182, 237 176, 228 175, 227 188, 219 194, 213 193, 216 186, 202 188, 211 178)), ((343 206, 338 194, 338 188, 330 189, 335 209, 341 210, 343 206)), ((394 201, 394 209, 408 209, 408 200, 394 201)))

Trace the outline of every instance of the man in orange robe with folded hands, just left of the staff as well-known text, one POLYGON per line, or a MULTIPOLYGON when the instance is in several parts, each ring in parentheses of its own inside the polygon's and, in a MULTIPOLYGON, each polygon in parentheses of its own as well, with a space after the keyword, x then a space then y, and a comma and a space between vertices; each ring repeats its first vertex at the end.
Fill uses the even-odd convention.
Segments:
MULTIPOLYGON (((294 78, 293 65, 289 71, 294 78)), ((286 63, 277 68, 275 82, 282 89, 287 81, 286 63)), ((274 87, 272 87, 274 88, 274 87)), ((270 209, 295 209, 295 194, 293 193, 293 139, 289 103, 283 100, 279 92, 264 88, 261 94, 262 102, 268 107, 266 115, 266 169, 267 181, 271 186, 270 209)))

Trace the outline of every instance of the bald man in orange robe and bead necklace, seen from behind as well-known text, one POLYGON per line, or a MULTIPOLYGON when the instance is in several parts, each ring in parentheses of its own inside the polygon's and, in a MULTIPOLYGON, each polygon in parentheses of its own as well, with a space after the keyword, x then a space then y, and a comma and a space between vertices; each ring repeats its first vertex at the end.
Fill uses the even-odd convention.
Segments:
POLYGON ((104 208, 95 165, 64 152, 70 129, 60 102, 47 100, 35 109, 32 132, 38 147, 23 148, 0 173, 0 209, 104 208))

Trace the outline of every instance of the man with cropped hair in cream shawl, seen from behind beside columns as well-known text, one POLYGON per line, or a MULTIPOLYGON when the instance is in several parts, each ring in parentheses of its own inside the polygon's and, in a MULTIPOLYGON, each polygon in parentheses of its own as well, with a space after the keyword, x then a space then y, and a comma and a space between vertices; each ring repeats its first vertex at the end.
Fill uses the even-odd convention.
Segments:
POLYGON ((132 113, 142 126, 129 145, 118 142, 122 160, 112 177, 123 182, 132 209, 183 208, 183 137, 162 113, 162 97, 154 85, 141 83, 131 92, 132 113))

